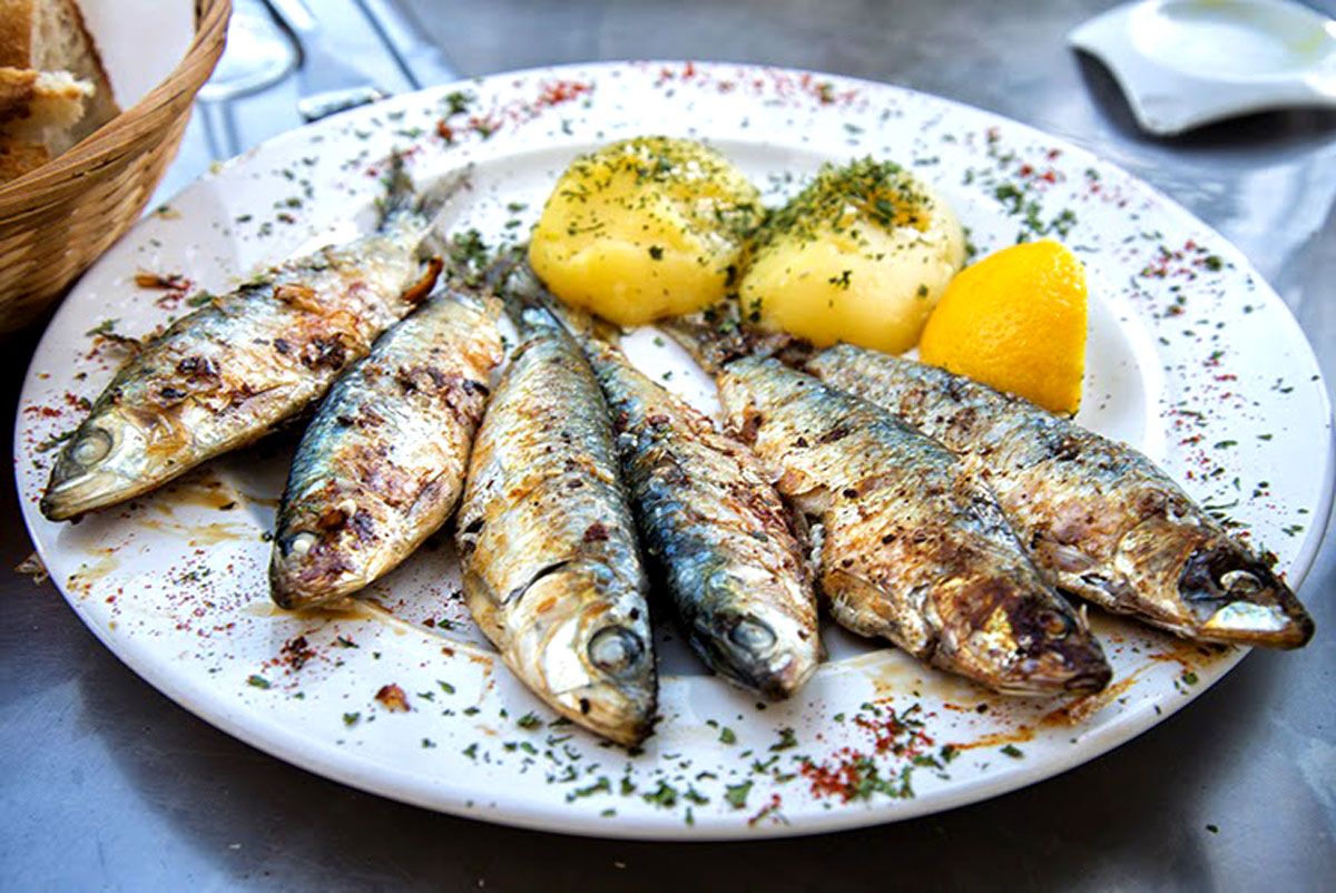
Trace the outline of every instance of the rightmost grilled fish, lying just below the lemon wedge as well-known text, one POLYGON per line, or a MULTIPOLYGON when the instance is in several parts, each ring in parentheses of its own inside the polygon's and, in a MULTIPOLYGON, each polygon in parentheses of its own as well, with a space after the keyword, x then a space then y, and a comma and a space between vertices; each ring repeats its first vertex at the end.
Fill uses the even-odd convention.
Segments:
POLYGON ((806 369, 966 456, 1059 590, 1189 639, 1297 648, 1312 638, 1267 561, 1132 446, 890 354, 838 345, 806 369))

